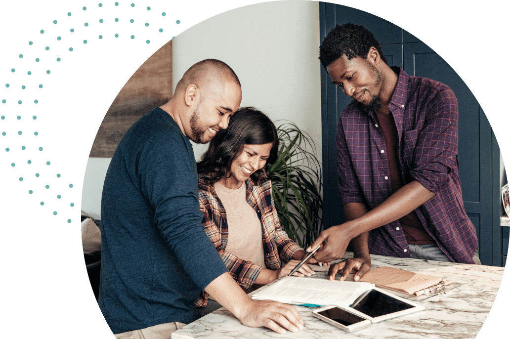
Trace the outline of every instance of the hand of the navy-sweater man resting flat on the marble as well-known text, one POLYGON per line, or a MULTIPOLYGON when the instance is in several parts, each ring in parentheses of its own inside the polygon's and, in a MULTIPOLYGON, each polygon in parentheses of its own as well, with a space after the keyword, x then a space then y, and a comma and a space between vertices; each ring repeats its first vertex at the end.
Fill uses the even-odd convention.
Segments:
POLYGON ((294 306, 271 300, 252 300, 238 319, 245 326, 264 326, 280 334, 285 334, 286 329, 298 332, 304 328, 304 322, 294 306))

